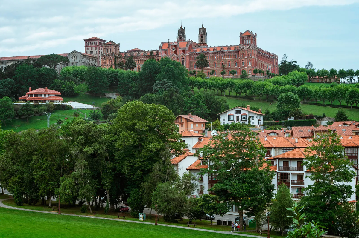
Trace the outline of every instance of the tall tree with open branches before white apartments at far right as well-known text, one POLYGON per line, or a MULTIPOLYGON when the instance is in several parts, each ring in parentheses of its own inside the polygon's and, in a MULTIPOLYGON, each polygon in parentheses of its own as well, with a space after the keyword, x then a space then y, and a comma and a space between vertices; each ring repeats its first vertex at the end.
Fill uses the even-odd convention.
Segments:
POLYGON ((305 153, 303 165, 311 171, 308 177, 313 184, 307 185, 300 204, 305 206, 308 219, 337 234, 338 225, 332 221, 341 227, 346 225, 337 217, 345 212, 342 205, 348 204, 353 194, 353 187, 348 184, 355 178, 353 163, 344 155, 340 135, 336 133, 314 138, 305 153))

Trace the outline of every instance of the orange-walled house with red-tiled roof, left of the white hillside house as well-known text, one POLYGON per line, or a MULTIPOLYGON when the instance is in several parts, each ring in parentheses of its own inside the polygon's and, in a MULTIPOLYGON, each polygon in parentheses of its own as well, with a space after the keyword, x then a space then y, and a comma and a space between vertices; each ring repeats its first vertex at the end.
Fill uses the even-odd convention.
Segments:
POLYGON ((195 133, 203 133, 205 130, 206 122, 208 121, 190 113, 188 115, 177 116, 174 124, 178 125, 180 133, 185 132, 186 130, 195 133))

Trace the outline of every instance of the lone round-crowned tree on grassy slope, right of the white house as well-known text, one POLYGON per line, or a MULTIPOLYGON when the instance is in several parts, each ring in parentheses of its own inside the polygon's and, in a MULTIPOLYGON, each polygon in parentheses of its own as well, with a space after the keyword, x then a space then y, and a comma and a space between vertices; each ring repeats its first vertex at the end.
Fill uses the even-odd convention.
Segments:
POLYGON ((300 108, 300 100, 298 95, 292 92, 285 92, 279 95, 277 99, 276 109, 281 114, 282 118, 285 118, 289 113, 295 109, 300 108))

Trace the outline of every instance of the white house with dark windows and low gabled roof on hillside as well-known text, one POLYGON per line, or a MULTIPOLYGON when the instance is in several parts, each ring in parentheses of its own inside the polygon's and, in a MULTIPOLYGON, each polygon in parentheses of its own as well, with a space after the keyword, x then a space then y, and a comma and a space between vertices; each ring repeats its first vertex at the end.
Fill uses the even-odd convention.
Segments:
POLYGON ((247 124, 250 121, 251 125, 260 127, 265 114, 262 114, 261 110, 259 110, 259 112, 250 110, 250 106, 248 105, 247 108, 236 106, 217 115, 220 115, 220 121, 223 125, 237 122, 247 124))

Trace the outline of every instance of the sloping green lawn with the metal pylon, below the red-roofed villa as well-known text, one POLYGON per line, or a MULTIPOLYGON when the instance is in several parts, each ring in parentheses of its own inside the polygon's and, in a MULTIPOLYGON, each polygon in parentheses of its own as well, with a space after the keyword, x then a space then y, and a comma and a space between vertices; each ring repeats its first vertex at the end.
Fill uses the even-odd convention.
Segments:
MULTIPOLYGON (((71 110, 56 110, 53 111, 54 114, 50 116, 50 125, 55 124, 57 120, 60 118, 61 120, 67 121, 72 120, 75 109, 71 110), (65 119, 67 118, 67 119, 65 119)), ((78 111, 82 112, 80 113, 80 118, 84 118, 88 116, 90 109, 79 109, 78 111)), ((47 117, 46 115, 40 115, 40 116, 32 116, 29 117, 29 121, 26 120, 26 118, 20 118, 20 119, 14 119, 14 120, 6 120, 6 127, 5 123, 1 121, 1 128, 4 130, 14 130, 15 127, 17 132, 20 132, 22 130, 27 130, 29 128, 34 128, 36 130, 42 129, 47 127, 47 117)))

